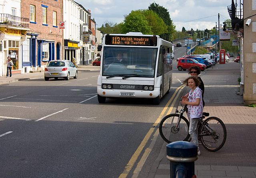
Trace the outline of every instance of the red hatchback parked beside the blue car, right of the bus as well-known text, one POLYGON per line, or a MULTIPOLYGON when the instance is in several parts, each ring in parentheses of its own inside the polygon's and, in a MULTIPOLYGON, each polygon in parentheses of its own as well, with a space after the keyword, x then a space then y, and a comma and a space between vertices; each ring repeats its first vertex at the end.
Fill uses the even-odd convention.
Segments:
POLYGON ((189 69, 191 66, 198 66, 200 67, 200 69, 202 71, 204 71, 206 69, 206 65, 198 63, 198 61, 194 60, 194 59, 180 59, 178 61, 178 65, 177 68, 178 70, 187 70, 189 69))

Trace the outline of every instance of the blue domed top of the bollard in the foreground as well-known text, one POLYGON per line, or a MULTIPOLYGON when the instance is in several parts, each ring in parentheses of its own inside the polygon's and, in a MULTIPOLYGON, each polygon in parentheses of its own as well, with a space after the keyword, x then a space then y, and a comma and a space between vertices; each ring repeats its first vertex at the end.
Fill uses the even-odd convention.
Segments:
POLYGON ((197 156, 197 147, 187 141, 176 141, 166 146, 166 153, 171 157, 190 158, 197 156))

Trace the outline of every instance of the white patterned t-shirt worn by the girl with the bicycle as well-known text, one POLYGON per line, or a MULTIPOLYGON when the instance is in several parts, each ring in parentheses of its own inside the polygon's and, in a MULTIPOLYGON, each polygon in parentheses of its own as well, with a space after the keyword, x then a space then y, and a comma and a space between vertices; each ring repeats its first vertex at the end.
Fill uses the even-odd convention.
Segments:
POLYGON ((188 117, 190 119, 203 116, 202 90, 199 87, 196 87, 194 91, 190 90, 188 94, 189 102, 196 102, 196 98, 200 98, 200 104, 198 106, 188 105, 188 117))

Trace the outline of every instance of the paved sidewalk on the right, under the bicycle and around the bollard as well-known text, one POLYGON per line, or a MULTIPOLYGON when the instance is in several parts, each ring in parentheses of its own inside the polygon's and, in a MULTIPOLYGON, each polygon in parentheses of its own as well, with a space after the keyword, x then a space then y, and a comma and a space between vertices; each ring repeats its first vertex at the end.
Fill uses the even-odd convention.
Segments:
MULTIPOLYGON (((256 177, 256 108, 243 106, 237 93, 240 84, 240 63, 216 64, 200 74, 204 81, 204 112, 219 117, 225 123, 227 139, 216 152, 199 145, 201 155, 195 161, 197 178, 256 177)), ((190 88, 183 89, 184 94, 190 88)), ((170 161, 164 142, 148 178, 170 178, 170 161)))

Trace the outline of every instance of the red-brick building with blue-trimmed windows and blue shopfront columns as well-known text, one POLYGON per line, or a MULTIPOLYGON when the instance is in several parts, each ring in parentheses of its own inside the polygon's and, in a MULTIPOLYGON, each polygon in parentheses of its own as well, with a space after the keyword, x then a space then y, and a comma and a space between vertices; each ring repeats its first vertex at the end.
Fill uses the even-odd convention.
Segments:
POLYGON ((63 29, 62 0, 21 0, 21 17, 30 19, 30 30, 23 45, 28 46, 28 59, 23 66, 35 70, 48 61, 62 59, 63 29))

